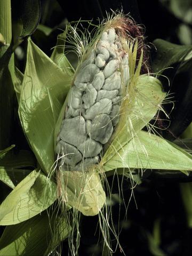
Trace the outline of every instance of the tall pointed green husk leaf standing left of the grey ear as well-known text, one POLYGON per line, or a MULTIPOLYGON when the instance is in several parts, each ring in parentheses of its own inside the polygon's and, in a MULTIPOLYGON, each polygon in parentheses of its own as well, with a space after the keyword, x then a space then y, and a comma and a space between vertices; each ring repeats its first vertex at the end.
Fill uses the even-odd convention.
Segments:
POLYGON ((19 102, 23 130, 44 172, 54 164, 54 125, 71 84, 63 72, 29 38, 19 102))

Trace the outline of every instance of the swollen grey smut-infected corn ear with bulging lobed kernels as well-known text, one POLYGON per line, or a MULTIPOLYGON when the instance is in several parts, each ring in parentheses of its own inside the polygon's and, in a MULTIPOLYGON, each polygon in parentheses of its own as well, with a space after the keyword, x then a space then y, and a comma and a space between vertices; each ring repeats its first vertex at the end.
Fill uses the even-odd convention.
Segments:
POLYGON ((56 147, 63 169, 86 171, 99 162, 118 124, 122 86, 128 81, 128 55, 110 28, 82 63, 68 93, 56 147))

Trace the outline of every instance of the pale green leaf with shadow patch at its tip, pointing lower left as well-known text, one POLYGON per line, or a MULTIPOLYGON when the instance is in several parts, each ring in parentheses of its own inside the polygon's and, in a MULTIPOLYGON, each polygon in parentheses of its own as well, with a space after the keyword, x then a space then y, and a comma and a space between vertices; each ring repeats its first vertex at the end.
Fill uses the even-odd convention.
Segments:
POLYGON ((23 179, 0 205, 0 225, 13 225, 34 217, 57 199, 56 185, 41 172, 23 179))

